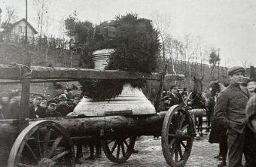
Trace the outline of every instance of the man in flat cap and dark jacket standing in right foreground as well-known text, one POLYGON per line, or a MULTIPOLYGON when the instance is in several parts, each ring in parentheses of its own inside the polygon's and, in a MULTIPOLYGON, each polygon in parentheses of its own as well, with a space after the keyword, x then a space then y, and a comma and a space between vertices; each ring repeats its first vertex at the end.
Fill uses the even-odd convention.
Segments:
POLYGON ((256 166, 254 134, 248 127, 245 108, 250 97, 247 88, 242 87, 245 68, 234 66, 228 70, 230 85, 219 93, 214 117, 227 128, 228 166, 256 166))

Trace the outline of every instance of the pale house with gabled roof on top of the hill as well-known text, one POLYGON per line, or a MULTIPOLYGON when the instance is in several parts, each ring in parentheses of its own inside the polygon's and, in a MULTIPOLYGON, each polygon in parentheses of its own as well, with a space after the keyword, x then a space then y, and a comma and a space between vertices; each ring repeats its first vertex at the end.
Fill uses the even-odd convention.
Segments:
MULTIPOLYGON (((34 37, 38 32, 29 22, 27 22, 27 25, 28 42, 29 44, 32 44, 34 42, 34 37)), ((3 41, 22 43, 25 40, 26 19, 23 18, 16 23, 2 23, 2 29, 3 41)))

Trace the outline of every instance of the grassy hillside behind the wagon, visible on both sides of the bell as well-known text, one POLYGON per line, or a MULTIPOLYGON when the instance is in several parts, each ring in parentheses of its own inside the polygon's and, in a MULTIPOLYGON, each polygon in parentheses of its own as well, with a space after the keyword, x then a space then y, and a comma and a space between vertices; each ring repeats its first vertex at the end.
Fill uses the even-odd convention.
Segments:
MULTIPOLYGON (((72 53, 70 50, 45 50, 41 49, 41 52, 38 52, 38 48, 29 47, 28 51, 21 44, 14 43, 0 43, 0 59, 2 64, 10 64, 11 62, 23 63, 24 56, 26 53, 31 54, 31 64, 32 65, 41 65, 41 66, 59 66, 59 67, 78 67, 80 57, 76 53, 72 53), (47 53, 47 55, 46 55, 47 53)), ((174 74, 172 71, 172 63, 170 60, 166 61, 168 64, 168 73, 174 74)), ((159 71, 163 69, 163 60, 159 60, 159 71)), ((201 65, 199 63, 187 63, 182 61, 175 61, 175 72, 176 74, 184 74, 185 79, 181 81, 168 81, 165 84, 165 88, 169 89, 173 84, 178 85, 178 87, 184 88, 187 87, 189 90, 193 89, 193 76, 198 77, 200 74, 204 76, 203 79, 203 89, 207 90, 208 84, 212 80, 218 80, 218 68, 214 68, 211 72, 211 66, 201 65), (190 77, 190 73, 191 76, 190 77)), ((219 80, 221 83, 227 83, 227 68, 220 68, 220 77, 219 80)), ((72 83, 62 83, 62 85, 72 84, 72 83)), ((6 90, 20 90, 20 85, 1 85, 0 92, 6 90)), ((158 82, 148 81, 147 87, 145 87, 145 93, 148 96, 154 96, 158 90, 158 82)), ((44 96, 53 97, 57 93, 60 93, 61 90, 55 90, 53 83, 32 83, 31 84, 32 93, 41 93, 44 96)))

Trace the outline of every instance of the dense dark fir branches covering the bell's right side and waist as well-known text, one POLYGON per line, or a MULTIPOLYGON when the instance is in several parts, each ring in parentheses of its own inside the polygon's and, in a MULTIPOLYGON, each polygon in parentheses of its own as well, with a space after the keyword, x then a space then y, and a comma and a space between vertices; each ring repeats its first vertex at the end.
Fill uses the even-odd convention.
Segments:
MULTIPOLYGON (((109 41, 114 48, 106 69, 122 71, 143 72, 151 74, 157 68, 157 58, 160 53, 158 32, 153 28, 151 21, 139 19, 136 14, 116 17, 114 25, 117 36, 109 41)), ((97 48, 105 46, 106 41, 98 42, 97 48)), ((112 99, 118 96, 123 85, 130 83, 133 87, 142 88, 146 80, 82 80, 81 86, 84 95, 99 101, 112 99)))

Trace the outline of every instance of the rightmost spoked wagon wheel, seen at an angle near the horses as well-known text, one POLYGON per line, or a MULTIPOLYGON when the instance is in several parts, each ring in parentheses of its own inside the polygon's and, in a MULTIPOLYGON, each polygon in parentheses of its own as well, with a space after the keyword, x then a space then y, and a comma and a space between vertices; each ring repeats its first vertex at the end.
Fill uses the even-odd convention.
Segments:
POLYGON ((174 105, 166 113, 162 127, 163 156, 169 166, 184 166, 194 141, 194 123, 187 109, 174 105))

